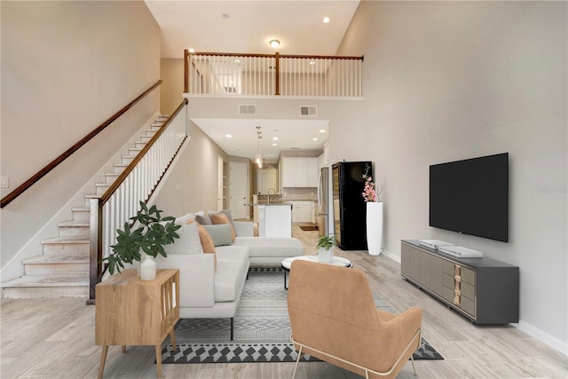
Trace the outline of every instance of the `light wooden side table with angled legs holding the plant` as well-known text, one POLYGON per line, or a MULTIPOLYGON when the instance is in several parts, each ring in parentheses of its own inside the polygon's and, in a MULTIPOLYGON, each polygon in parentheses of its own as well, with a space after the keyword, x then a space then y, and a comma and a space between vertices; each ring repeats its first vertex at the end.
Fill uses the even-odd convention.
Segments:
POLYGON ((179 271, 158 270, 154 280, 140 280, 137 270, 124 270, 96 287, 95 344, 102 345, 99 379, 108 345, 154 345, 162 377, 162 343, 179 320, 179 271))

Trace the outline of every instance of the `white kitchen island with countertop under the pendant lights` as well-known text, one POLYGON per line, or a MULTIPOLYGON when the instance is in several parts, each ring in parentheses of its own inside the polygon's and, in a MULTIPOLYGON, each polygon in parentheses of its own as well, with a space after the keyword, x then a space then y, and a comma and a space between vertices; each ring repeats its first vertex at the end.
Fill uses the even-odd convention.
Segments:
POLYGON ((247 205, 257 207, 259 237, 292 237, 292 203, 274 201, 247 205))

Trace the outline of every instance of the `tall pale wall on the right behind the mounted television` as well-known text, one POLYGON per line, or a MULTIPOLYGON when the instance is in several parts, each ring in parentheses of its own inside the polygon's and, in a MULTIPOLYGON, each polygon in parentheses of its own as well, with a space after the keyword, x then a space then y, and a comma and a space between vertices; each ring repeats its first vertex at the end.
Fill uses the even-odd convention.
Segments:
POLYGON ((385 183, 384 248, 436 238, 520 267, 520 328, 567 351, 567 4, 363 1, 339 55, 365 55, 362 111, 331 162, 385 183), (509 152, 509 243, 428 225, 429 165, 509 152))

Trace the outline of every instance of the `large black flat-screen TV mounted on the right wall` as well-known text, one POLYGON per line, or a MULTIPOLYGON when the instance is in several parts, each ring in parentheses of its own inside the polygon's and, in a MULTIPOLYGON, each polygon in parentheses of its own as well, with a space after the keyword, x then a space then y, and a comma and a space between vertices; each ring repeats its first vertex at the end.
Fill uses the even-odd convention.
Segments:
POLYGON ((430 226, 509 241, 509 153, 431 165, 430 226))

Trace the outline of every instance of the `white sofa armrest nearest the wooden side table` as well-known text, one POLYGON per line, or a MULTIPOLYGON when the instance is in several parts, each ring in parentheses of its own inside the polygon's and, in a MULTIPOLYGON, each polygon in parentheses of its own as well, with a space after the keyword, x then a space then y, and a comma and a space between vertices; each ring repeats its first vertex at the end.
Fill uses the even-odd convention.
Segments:
POLYGON ((179 270, 180 308, 215 304, 215 254, 169 254, 155 262, 158 269, 179 270))

